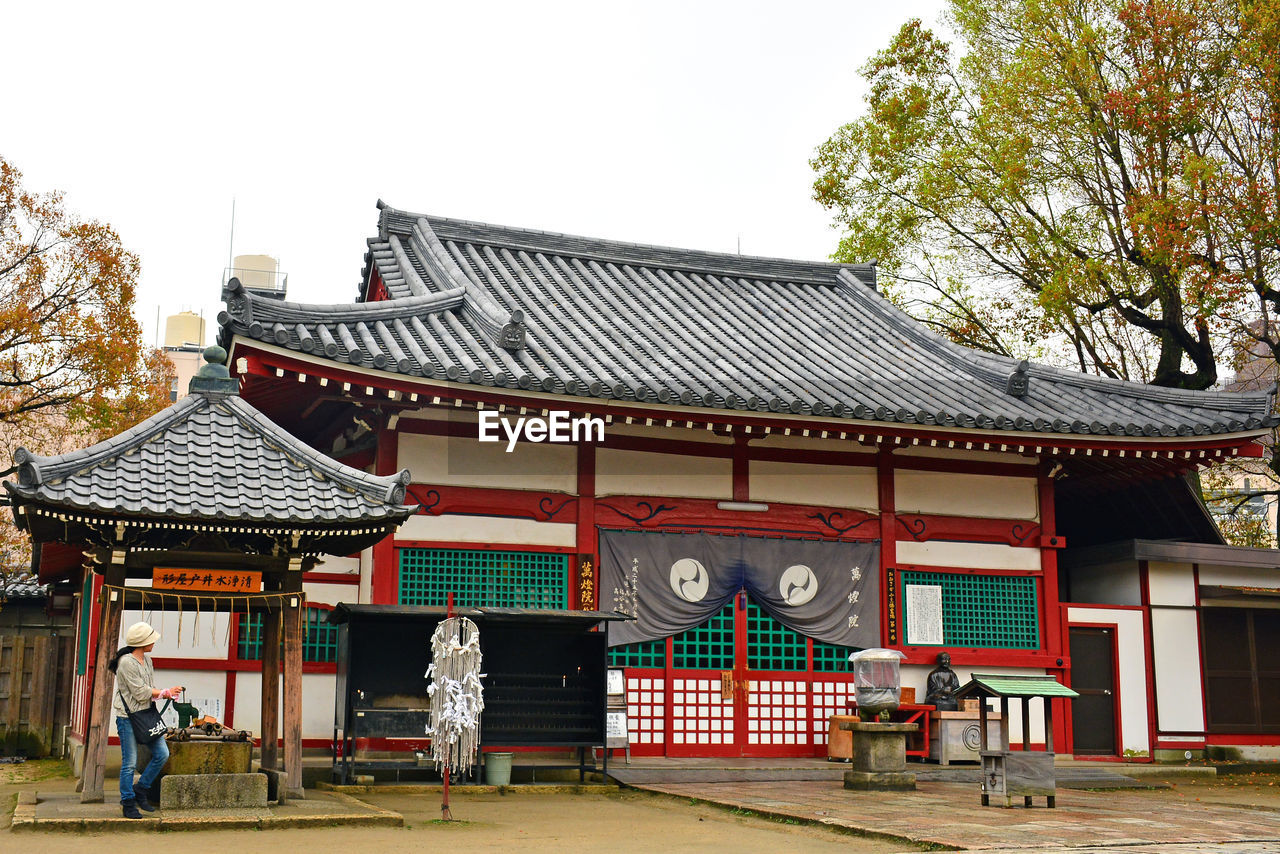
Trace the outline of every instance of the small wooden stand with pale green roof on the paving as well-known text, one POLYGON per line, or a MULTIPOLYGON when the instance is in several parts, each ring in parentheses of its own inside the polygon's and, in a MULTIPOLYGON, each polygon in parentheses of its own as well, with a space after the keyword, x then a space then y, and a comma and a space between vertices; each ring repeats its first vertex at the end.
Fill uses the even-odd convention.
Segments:
POLYGON ((956 699, 978 698, 978 729, 982 753, 982 805, 989 807, 991 798, 1004 798, 1005 807, 1012 807, 1012 799, 1021 796, 1023 804, 1032 805, 1032 798, 1043 796, 1050 809, 1055 807, 1057 777, 1053 772, 1053 698, 1070 699, 1079 697, 1052 676, 984 676, 974 673, 973 679, 959 691, 956 699), (1001 726, 1000 749, 987 749, 987 699, 1000 699, 1001 726), (1044 707, 1044 750, 1032 750, 1030 700, 1041 698, 1044 707), (1014 753, 1009 749, 1009 700, 1018 699, 1023 704, 1023 749, 1014 753))

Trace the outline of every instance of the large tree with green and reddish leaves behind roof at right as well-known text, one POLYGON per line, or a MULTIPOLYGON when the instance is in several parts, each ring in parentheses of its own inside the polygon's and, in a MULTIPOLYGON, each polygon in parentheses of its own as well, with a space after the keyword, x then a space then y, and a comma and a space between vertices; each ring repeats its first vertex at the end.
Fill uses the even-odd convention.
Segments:
POLYGON ((1280 1, 951 0, 947 24, 897 32, 812 161, 836 257, 1007 356, 1190 389, 1242 347, 1280 360, 1280 1))

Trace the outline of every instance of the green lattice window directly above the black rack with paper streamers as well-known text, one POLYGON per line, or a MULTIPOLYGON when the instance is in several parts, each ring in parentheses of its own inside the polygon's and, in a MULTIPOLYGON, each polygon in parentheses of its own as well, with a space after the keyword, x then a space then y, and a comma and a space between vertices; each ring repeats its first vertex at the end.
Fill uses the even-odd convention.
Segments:
POLYGON ((547 552, 401 549, 401 604, 567 608, 568 558, 547 552))

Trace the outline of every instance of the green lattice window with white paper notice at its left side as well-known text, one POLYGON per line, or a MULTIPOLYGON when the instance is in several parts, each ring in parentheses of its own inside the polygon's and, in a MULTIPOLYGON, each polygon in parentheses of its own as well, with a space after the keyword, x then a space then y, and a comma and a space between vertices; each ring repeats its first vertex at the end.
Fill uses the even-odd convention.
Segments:
MULTIPOLYGON (((902 599, 908 585, 942 588, 942 643, 947 647, 1001 649, 1039 648, 1039 608, 1036 579, 1023 575, 959 575, 910 572, 902 575, 902 599)), ((904 638, 908 615, 902 612, 904 638)))

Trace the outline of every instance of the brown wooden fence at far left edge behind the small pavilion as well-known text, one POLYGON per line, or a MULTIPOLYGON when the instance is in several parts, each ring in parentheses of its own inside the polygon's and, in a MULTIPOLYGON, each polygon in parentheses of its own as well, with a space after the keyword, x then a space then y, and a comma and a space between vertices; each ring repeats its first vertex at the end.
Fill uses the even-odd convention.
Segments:
POLYGON ((74 658, 65 636, 0 635, 0 754, 60 752, 74 658))

